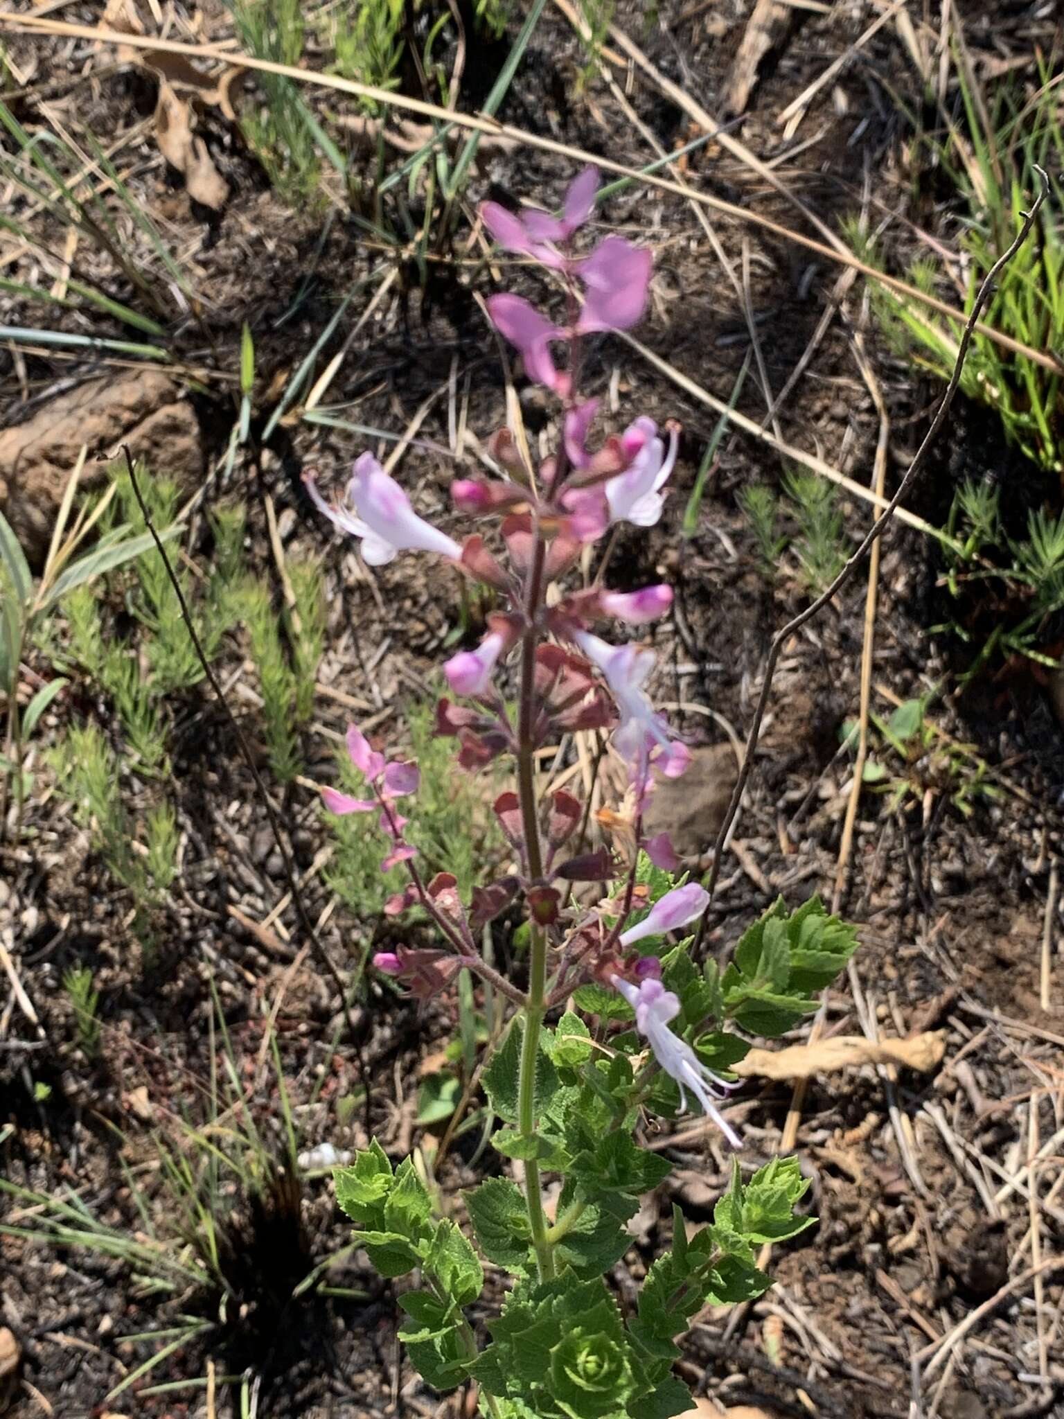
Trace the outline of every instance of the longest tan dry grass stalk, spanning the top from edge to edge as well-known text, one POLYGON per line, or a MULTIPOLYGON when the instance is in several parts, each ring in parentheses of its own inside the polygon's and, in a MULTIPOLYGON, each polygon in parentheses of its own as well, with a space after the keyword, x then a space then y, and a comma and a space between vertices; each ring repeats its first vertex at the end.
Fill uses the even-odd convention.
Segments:
MULTIPOLYGON (((575 163, 594 163, 603 172, 617 173, 621 177, 645 183, 647 186, 657 187, 661 192, 670 192, 674 196, 697 201, 704 207, 711 207, 714 211, 725 213, 729 217, 735 217, 736 221, 760 227, 763 231, 770 231, 785 241, 793 241, 809 251, 816 251, 827 261, 860 271, 861 275, 878 281, 881 285, 904 295, 909 301, 926 305, 932 311, 938 311, 941 315, 946 315, 958 322, 965 321, 965 312, 949 305, 946 301, 939 301, 938 297, 929 295, 926 291, 921 291, 915 285, 909 285, 908 281, 899 281, 897 277, 885 275, 882 271, 877 271, 865 261, 861 261, 829 227, 824 227, 823 223, 817 223, 804 207, 802 207, 803 214, 824 233, 824 241, 816 241, 813 237, 806 237, 800 231, 793 231, 790 227, 785 227, 782 223, 773 221, 770 217, 763 217, 756 211, 749 211, 746 207, 739 207, 735 203, 724 201, 719 197, 712 197, 708 193, 697 192, 695 189, 685 189, 668 177, 660 177, 657 173, 644 173, 636 167, 627 166, 626 163, 614 162, 610 158, 596 156, 582 148, 573 148, 570 143, 560 143, 552 138, 542 138, 538 133, 529 133, 526 129, 515 128, 511 123, 498 123, 494 119, 484 118, 478 114, 457 114, 451 109, 440 108, 438 104, 427 104, 423 99, 406 98, 404 95, 392 94, 387 89, 375 88, 370 84, 358 84, 355 79, 345 79, 339 74, 323 74, 318 70, 301 70, 289 64, 275 64, 272 60, 257 60, 250 54, 238 54, 233 50, 221 48, 220 45, 186 44, 180 40, 131 35, 122 34, 116 30, 106 30, 104 27, 70 24, 61 20, 11 14, 10 11, 0 13, 0 28, 31 34, 54 34, 67 38, 91 40, 98 44, 125 44, 136 48, 153 50, 162 54, 184 54, 190 58, 217 60, 220 62, 234 64, 240 68, 254 70, 260 74, 278 74, 282 78, 294 79, 298 84, 309 84, 316 88, 335 89, 339 94, 352 94, 356 98, 373 99, 376 104, 382 104, 386 108, 420 114, 423 118, 454 123, 460 128, 468 128, 472 132, 489 133, 495 138, 508 138, 516 143, 523 143, 526 148, 538 148, 541 152, 555 153, 558 158, 567 158, 575 163)), ((682 94, 682 89, 677 89, 677 94, 682 94)), ((684 98, 687 99, 687 95, 684 95, 684 98)), ((708 115, 706 118, 709 125, 715 128, 714 119, 708 115)), ((716 136, 722 146, 728 146, 729 142, 735 143, 735 140, 729 139, 726 133, 718 133, 716 136)), ((750 163, 753 170, 773 187, 779 187, 780 192, 790 200, 797 200, 786 184, 782 183, 780 179, 772 172, 772 169, 756 159, 753 153, 742 148, 742 145, 738 145, 735 152, 743 162, 750 163)), ((979 308, 982 309, 982 307, 979 308)), ((1020 341, 1014 341, 1009 335, 1002 333, 1002 331, 983 325, 982 321, 976 321, 975 329, 987 339, 994 341, 994 343, 1000 345, 1003 349, 1034 360, 1034 363, 1040 365, 1043 369, 1053 370, 1054 373, 1058 370, 1053 356, 1047 355, 1044 350, 1023 345, 1020 341)))

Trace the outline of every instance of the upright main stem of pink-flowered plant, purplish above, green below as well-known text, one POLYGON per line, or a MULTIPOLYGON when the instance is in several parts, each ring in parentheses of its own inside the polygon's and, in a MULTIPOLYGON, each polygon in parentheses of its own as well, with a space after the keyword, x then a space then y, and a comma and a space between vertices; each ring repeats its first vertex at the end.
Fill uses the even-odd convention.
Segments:
MULTIPOLYGON (((539 640, 536 613, 543 585, 546 545, 536 528, 535 551, 528 576, 528 600, 525 640, 521 658, 521 704, 518 710, 518 797, 525 837, 525 860, 529 881, 543 876, 543 857, 539 843, 539 819, 536 813, 536 782, 533 766, 533 714, 536 643, 539 640)), ((531 925, 531 954, 528 1000, 525 1005, 525 1036, 521 1046, 521 1074, 518 1081, 518 1131, 522 1138, 536 1137, 536 1059, 539 1057, 539 1036, 543 1029, 543 998, 546 993, 546 932, 535 921, 531 925)), ((535 1158, 525 1159, 525 1205, 532 1232, 532 1246, 536 1252, 541 1281, 555 1274, 555 1259, 546 1235, 543 1195, 539 1183, 539 1164, 535 1158)))

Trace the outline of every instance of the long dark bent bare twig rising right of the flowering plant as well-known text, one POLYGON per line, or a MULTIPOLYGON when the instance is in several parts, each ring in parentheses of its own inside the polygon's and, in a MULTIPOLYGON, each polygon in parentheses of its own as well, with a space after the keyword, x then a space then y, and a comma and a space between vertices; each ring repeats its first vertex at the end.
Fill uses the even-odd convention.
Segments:
MULTIPOLYGON (((916 475, 924 468, 928 451, 932 443, 935 441, 939 429, 946 420, 949 407, 953 403, 953 396, 956 394, 958 386, 960 385, 960 375, 965 368, 965 359, 968 358, 968 346, 972 343, 972 335, 975 332, 976 324, 979 322, 979 315, 983 307, 986 305, 987 298, 990 297, 997 274, 1012 261, 1012 258, 1016 255, 1016 253, 1020 250, 1023 243, 1030 236, 1030 230, 1034 226, 1034 219, 1038 214, 1038 209, 1048 196, 1050 192, 1048 177, 1046 176, 1043 169, 1038 167, 1037 165, 1036 165, 1036 172, 1041 179, 1041 192, 1034 199, 1031 210, 1024 213, 1023 226, 1016 234, 1016 240, 1009 247, 1009 250, 994 261, 994 264, 986 274, 986 280, 979 287, 979 294, 975 298, 972 314, 968 316, 968 324, 965 325, 965 331, 960 336, 960 346, 958 349, 956 363, 953 365, 953 373, 949 379, 949 385, 946 386, 946 392, 942 396, 942 403, 938 406, 938 413, 931 421, 931 429, 928 429, 924 437, 924 443, 919 446, 912 458, 912 463, 905 470, 905 477, 898 484, 898 491, 887 504, 882 514, 871 525, 861 545, 857 548, 857 551, 853 553, 850 561, 841 569, 838 576, 836 576, 836 579, 831 582, 827 590, 823 592, 820 596, 817 596, 817 599, 811 602, 803 612, 799 612, 797 616, 789 620, 782 630, 776 631, 772 646, 769 647, 769 657, 765 666, 765 678, 762 681, 760 694, 758 695, 758 705, 753 711, 750 729, 749 734, 746 735, 746 752, 743 753, 742 769, 739 771, 739 778, 735 782, 735 789, 732 792, 731 802, 728 803, 728 812, 724 816, 724 823, 721 824, 721 830, 716 834, 716 843, 714 846, 714 866, 709 870, 709 881, 706 883, 706 890, 709 893, 709 902, 712 902, 714 891, 716 888, 716 881, 721 876, 721 863, 724 860, 724 844, 728 841, 728 833, 732 829, 732 823, 735 822, 735 815, 739 812, 739 803, 742 802, 742 796, 746 792, 746 785, 749 783, 750 773, 753 772, 753 752, 758 748, 760 725, 762 719, 765 718, 765 711, 767 710, 769 705, 769 695, 772 694, 772 677, 776 673, 776 661, 779 660, 780 651, 783 650, 783 646, 794 634, 794 631, 800 630, 806 624, 806 622, 810 622, 819 612, 821 612, 830 600, 834 600, 836 595, 843 589, 843 586, 846 586, 846 583, 854 575, 861 562, 864 562, 865 556, 871 551, 872 543, 885 531, 887 524, 894 517, 894 512, 898 508, 901 499, 905 497, 908 490, 915 482, 916 475)), ((695 951, 698 951, 698 948, 702 945, 702 937, 705 935, 708 912, 709 912, 709 904, 706 904, 706 910, 702 912, 702 917, 698 922, 698 935, 695 937, 695 951)))

